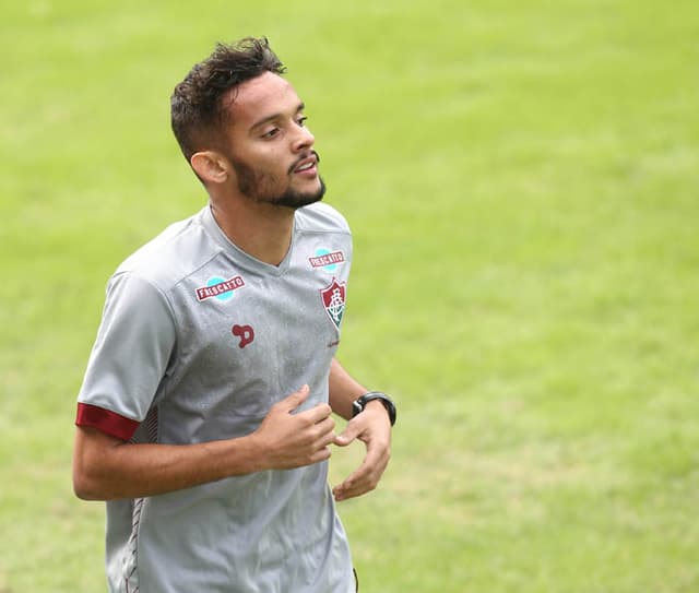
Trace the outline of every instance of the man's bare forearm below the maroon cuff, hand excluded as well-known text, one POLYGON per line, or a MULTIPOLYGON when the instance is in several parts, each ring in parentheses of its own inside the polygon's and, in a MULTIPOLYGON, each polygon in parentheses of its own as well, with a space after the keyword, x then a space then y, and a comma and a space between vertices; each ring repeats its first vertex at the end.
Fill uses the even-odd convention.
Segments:
POLYGON ((134 444, 79 428, 73 486, 80 498, 112 500, 165 494, 261 469, 250 437, 196 444, 134 444))

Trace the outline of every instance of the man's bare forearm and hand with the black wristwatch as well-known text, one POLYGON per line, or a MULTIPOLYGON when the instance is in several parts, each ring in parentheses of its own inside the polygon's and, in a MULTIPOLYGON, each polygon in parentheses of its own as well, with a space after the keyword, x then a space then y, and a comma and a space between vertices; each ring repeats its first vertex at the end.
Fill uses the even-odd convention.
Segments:
POLYGON ((334 443, 346 447, 359 439, 366 444, 364 461, 342 484, 333 488, 336 500, 345 500, 374 490, 391 456, 391 422, 383 404, 369 402, 360 414, 352 417, 352 402, 366 393, 350 373, 333 359, 330 367, 330 405, 335 414, 348 419, 347 427, 334 443))

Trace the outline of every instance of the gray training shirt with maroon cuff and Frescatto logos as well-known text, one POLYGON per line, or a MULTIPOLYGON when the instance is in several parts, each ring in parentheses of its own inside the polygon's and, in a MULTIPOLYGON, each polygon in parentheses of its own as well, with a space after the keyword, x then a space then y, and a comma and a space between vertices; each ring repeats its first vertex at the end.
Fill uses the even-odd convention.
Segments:
MULTIPOLYGON (((252 432, 310 387, 328 402, 352 261, 345 220, 299 209, 279 265, 239 250, 209 207, 110 278, 76 424, 133 442, 252 432)), ((350 593, 352 559, 328 463, 107 502, 112 593, 350 593)))

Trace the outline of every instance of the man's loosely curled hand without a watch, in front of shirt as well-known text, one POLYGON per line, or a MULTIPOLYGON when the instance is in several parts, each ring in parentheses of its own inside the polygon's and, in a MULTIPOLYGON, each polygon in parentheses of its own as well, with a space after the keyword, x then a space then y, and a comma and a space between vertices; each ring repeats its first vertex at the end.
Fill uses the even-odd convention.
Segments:
POLYGON ((301 387, 274 404, 260 427, 250 437, 260 455, 263 470, 291 470, 330 458, 330 444, 335 439, 335 422, 328 404, 294 414, 309 394, 301 387))

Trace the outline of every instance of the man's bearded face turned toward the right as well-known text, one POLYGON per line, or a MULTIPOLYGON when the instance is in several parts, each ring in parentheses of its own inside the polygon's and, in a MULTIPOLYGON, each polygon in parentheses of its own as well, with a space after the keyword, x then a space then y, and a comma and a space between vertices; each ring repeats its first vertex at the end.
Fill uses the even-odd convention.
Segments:
POLYGON ((300 207, 322 199, 315 138, 293 86, 266 72, 245 82, 230 106, 228 149, 238 191, 260 203, 300 207))

